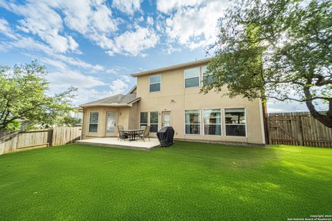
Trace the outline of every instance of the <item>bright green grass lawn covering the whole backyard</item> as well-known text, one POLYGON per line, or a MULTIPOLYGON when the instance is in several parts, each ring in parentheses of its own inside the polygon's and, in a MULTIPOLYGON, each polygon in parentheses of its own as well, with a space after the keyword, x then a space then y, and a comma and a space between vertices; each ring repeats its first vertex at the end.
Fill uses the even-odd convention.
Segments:
POLYGON ((0 156, 0 220, 287 220, 331 211, 328 148, 70 144, 0 156))

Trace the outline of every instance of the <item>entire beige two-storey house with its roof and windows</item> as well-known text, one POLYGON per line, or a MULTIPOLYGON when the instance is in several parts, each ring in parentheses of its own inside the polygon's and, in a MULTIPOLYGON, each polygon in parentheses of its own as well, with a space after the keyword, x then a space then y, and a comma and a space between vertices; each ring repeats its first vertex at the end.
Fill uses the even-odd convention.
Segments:
POLYGON ((134 73, 137 86, 127 95, 82 104, 82 138, 117 136, 117 125, 149 125, 152 137, 163 126, 173 126, 176 140, 265 144, 261 99, 199 93, 209 80, 204 75, 208 61, 134 73))

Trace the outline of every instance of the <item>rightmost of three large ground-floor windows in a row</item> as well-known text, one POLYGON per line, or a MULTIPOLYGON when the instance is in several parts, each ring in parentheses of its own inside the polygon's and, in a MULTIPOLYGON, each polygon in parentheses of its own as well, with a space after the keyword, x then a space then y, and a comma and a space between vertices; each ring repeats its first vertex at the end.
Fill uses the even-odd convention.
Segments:
POLYGON ((226 135, 246 137, 246 112, 244 108, 225 109, 226 135))

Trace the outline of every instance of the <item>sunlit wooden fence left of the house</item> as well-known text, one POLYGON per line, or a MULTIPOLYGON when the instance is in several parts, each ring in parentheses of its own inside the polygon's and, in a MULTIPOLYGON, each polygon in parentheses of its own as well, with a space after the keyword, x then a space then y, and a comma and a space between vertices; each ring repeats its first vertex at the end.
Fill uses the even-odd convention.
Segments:
POLYGON ((80 127, 57 127, 35 131, 0 133, 0 155, 22 149, 70 144, 80 140, 80 127))

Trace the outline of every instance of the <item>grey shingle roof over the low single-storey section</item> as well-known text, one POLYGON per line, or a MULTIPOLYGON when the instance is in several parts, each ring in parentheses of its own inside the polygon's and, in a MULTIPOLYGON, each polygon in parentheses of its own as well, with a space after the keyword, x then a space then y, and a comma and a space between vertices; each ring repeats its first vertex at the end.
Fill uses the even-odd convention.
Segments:
POLYGON ((121 105, 128 105, 131 104, 133 102, 137 102, 138 100, 140 100, 140 97, 136 97, 136 93, 131 93, 128 95, 114 95, 111 97, 105 97, 103 99, 98 99, 94 102, 89 102, 86 104, 82 104, 80 106, 121 106, 121 105))

